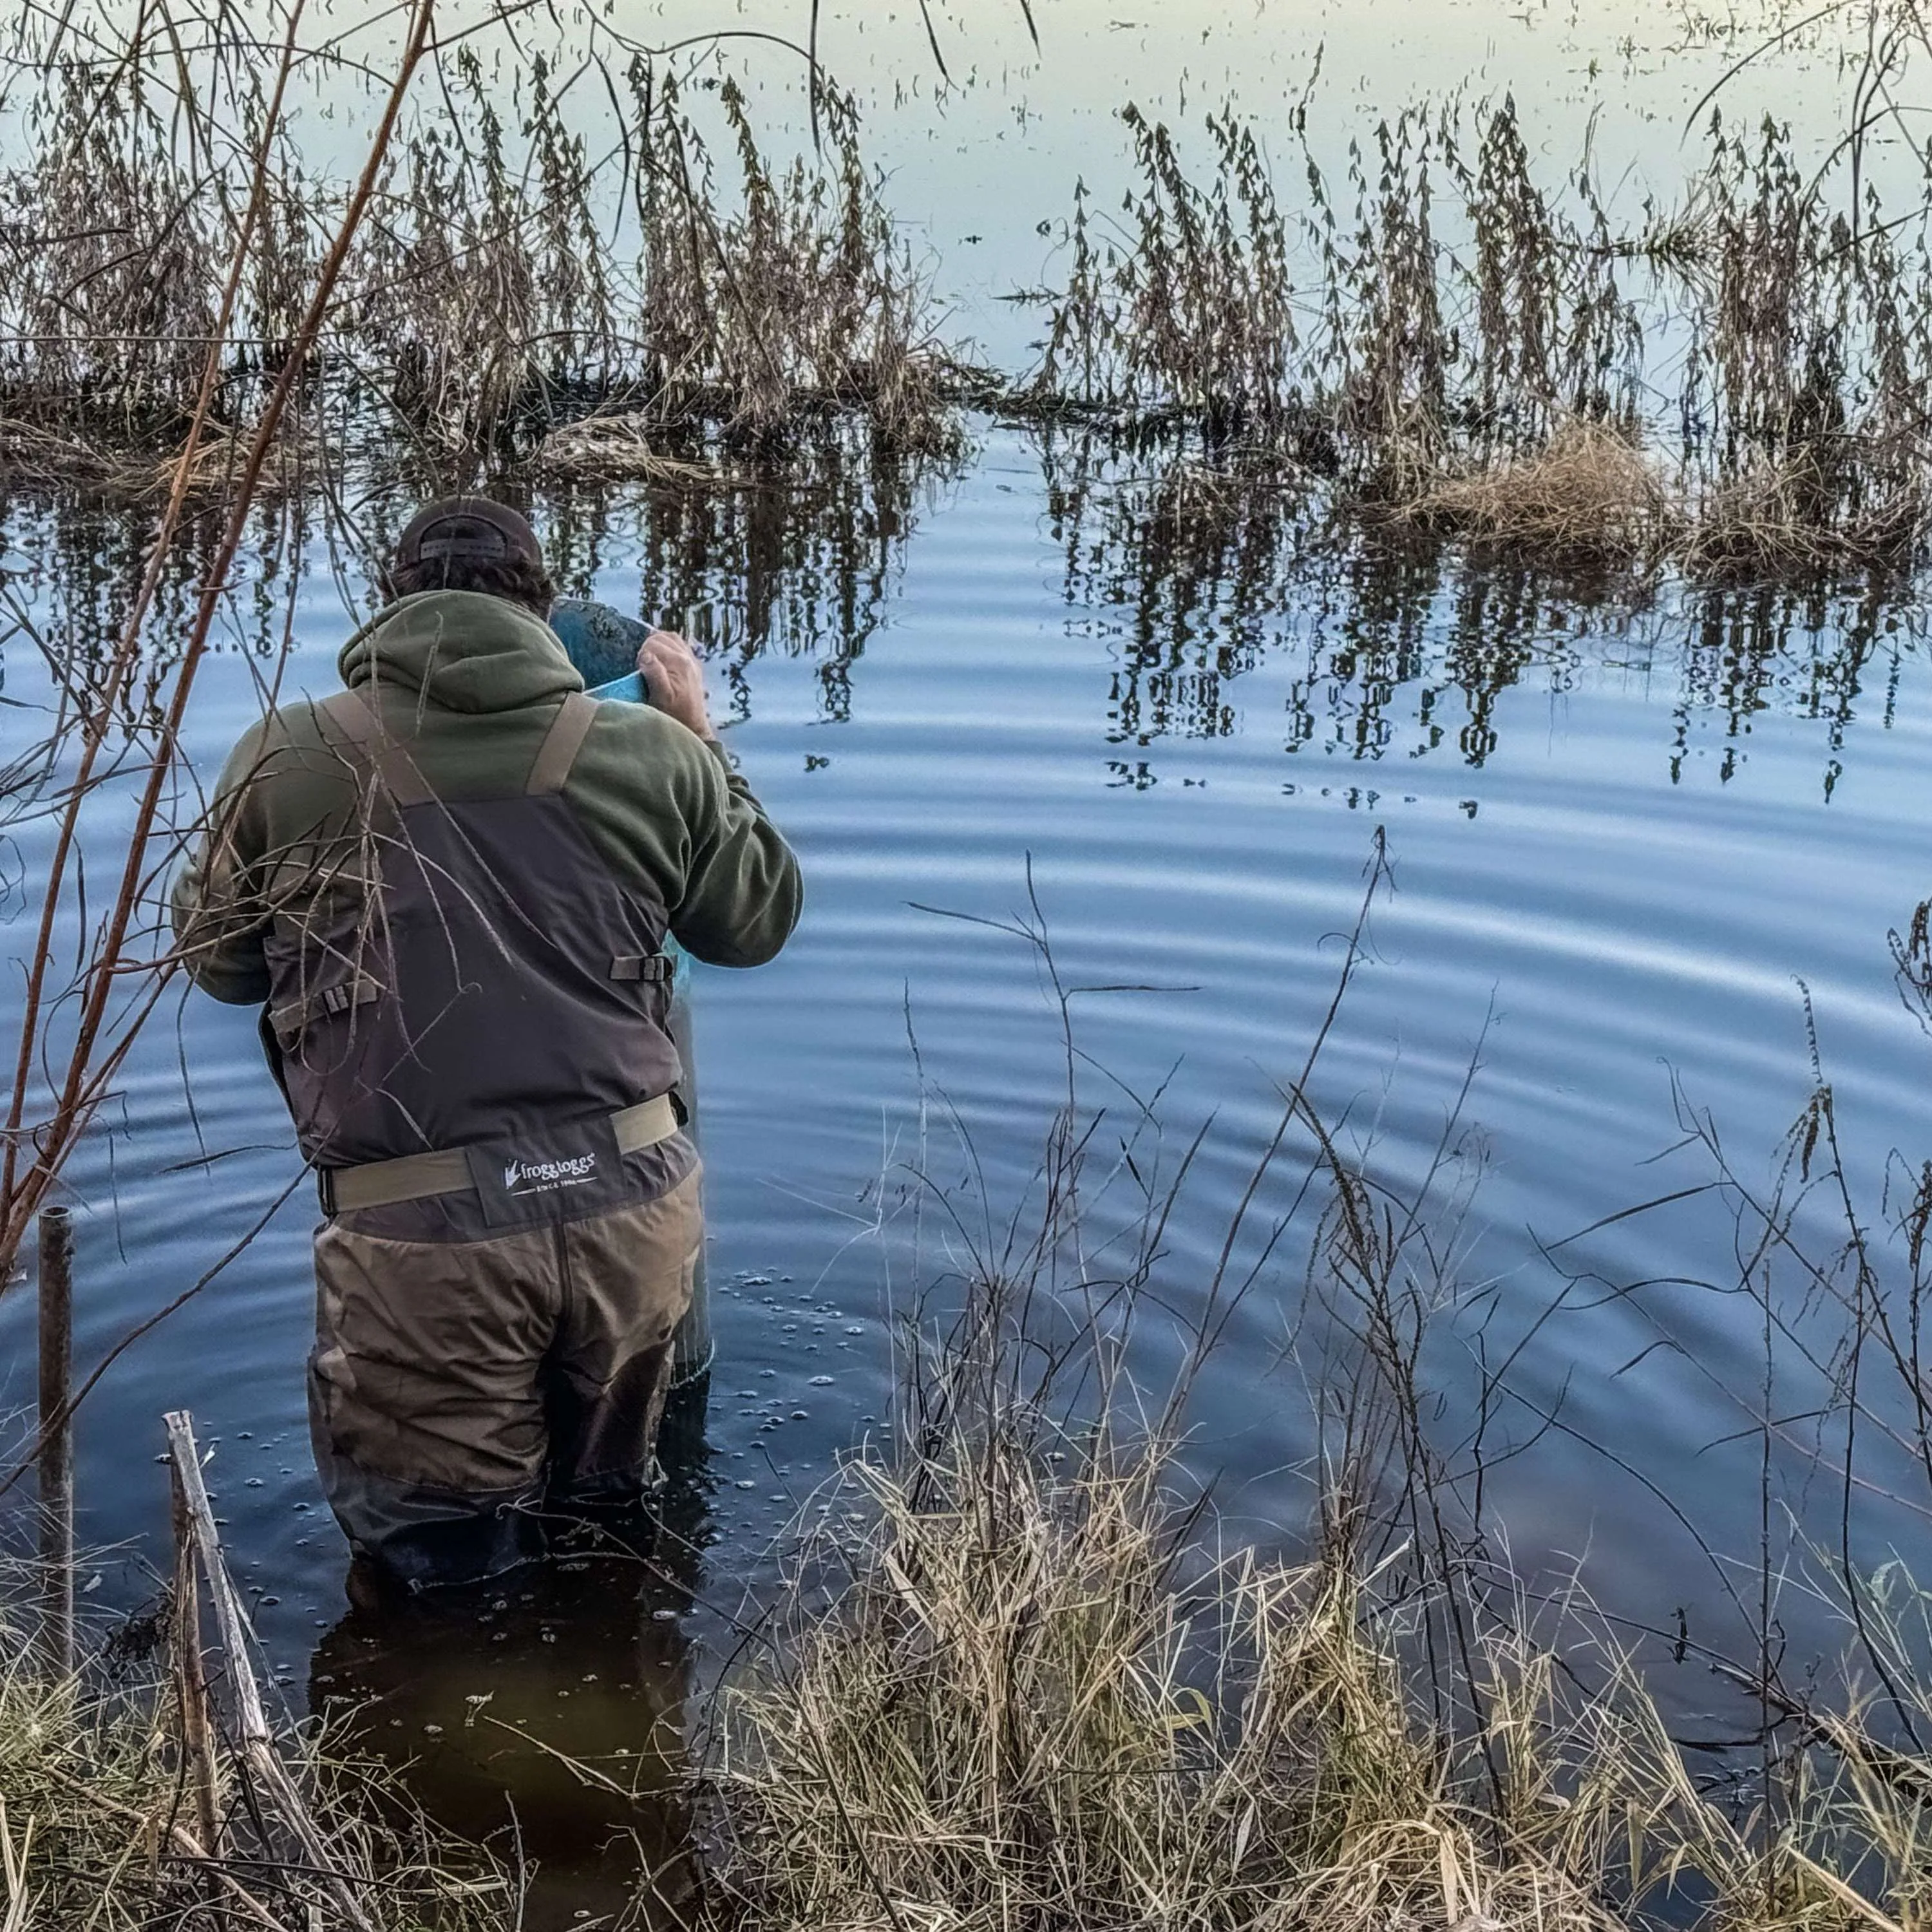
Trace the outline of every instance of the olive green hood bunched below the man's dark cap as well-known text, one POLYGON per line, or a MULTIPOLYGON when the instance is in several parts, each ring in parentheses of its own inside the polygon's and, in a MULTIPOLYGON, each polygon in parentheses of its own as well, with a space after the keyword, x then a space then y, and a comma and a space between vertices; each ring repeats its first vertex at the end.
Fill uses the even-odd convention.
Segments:
POLYGON ((444 711, 516 711, 583 690, 556 632, 483 591, 417 591, 379 611, 336 659, 348 686, 402 688, 444 711))

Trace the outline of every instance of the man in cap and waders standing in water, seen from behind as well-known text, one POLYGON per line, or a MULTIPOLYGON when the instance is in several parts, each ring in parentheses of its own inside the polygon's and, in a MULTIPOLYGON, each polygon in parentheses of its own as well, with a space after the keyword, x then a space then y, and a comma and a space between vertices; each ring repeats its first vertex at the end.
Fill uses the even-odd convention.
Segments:
POLYGON ((583 696, 514 510, 431 504, 383 587, 348 688, 236 746, 174 920, 319 1173, 323 1488, 421 1588, 649 1490, 703 1235, 665 935, 763 964, 800 881, 690 645, 645 641, 651 707, 583 696))

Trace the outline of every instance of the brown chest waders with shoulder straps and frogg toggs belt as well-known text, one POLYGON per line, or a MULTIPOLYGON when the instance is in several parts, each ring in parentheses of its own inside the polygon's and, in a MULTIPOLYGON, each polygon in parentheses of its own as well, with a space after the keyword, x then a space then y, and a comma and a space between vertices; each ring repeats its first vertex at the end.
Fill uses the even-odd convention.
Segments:
POLYGON ((315 1236, 317 1468, 412 1586, 543 1548, 545 1507, 647 1490, 701 1246, 672 1101, 667 916, 562 796, 566 697, 522 794, 446 800, 363 699, 317 705, 361 775, 336 889, 276 920, 267 1026, 315 1236))

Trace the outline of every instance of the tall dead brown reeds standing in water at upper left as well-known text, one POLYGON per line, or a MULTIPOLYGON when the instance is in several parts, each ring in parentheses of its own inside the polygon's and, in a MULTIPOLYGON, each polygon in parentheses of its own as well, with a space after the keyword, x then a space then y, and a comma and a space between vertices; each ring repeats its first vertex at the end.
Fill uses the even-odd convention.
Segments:
MULTIPOLYGON (((307 415, 332 406, 332 442, 439 477, 533 454, 564 469, 582 439, 551 433, 603 412, 645 444, 703 431, 771 450, 856 410, 887 444, 949 446, 954 365, 850 102, 821 85, 823 151, 781 168, 736 81, 705 73, 721 166, 672 64, 585 35, 574 73, 541 52, 487 68, 468 35, 435 56, 440 89, 386 145, 317 332, 307 415), (591 73, 609 114, 587 131, 591 73)), ((126 56, 68 48, 15 108, 27 153, 0 168, 15 475, 137 489, 185 429, 211 348, 214 421, 245 421, 346 207, 350 184, 313 172, 286 120, 265 124, 259 83, 232 116, 184 112, 170 60, 164 35, 126 56), (240 299, 218 317, 243 220, 240 299)))

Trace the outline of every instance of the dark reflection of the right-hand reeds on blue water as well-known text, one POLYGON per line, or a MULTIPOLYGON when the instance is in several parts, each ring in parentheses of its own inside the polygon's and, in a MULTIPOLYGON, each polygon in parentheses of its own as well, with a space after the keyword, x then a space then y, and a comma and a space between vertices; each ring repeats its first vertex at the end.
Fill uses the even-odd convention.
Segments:
MULTIPOLYGON (((1553 452, 1522 466, 1561 468, 1565 444, 1600 435, 1559 433, 1553 452)), ((1627 448, 1617 460, 1640 462, 1627 448)), ((1453 489, 1474 497, 1509 489, 1507 477, 1505 464, 1505 481, 1453 489)), ((1549 527, 1548 481, 1524 485, 1511 514, 1548 520, 1549 541, 1476 545, 1439 516, 1335 516, 1246 446, 1217 456, 1161 439, 1150 450, 1095 425, 1055 425, 1043 479, 1066 603, 1113 653, 1109 736, 1142 750, 1233 732, 1236 682, 1283 657, 1287 750, 1362 763, 1482 765, 1517 686, 1559 692, 1640 670, 1675 680, 1673 775, 1692 721, 1716 719, 1729 779, 1752 717, 1777 709, 1828 726, 1830 790, 1853 719, 1891 715, 1924 636, 1891 574, 1837 585, 1633 576, 1549 527)), ((1246 726, 1258 721, 1250 703, 1246 726)))

